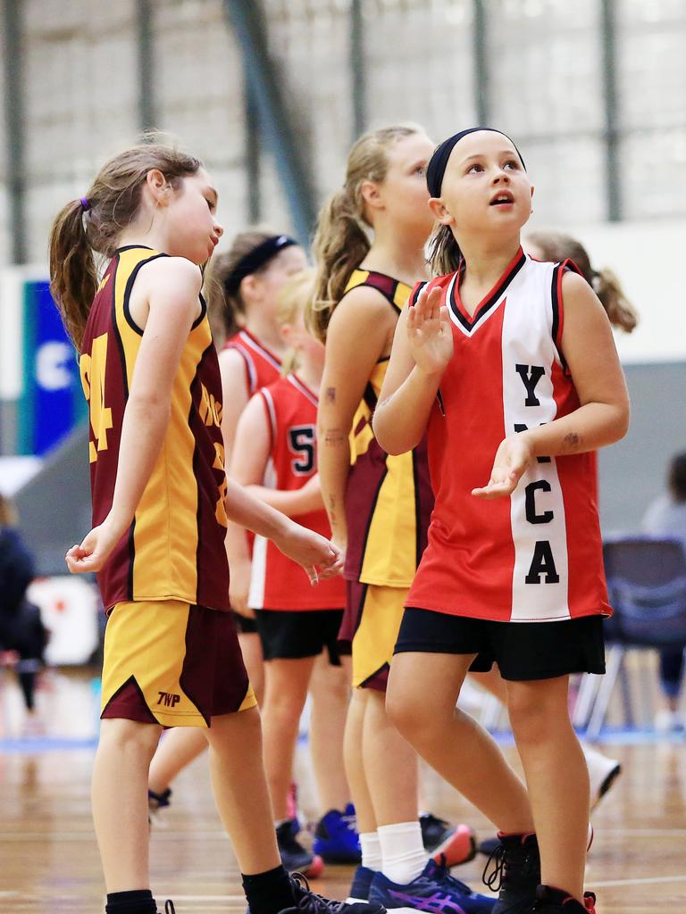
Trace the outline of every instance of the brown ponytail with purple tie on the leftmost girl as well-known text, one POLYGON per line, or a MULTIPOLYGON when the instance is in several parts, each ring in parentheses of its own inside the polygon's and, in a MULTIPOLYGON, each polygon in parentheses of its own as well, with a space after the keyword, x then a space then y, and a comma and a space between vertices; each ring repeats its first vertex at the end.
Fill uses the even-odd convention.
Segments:
POLYGON ((98 271, 88 241, 81 200, 59 210, 50 230, 50 292, 74 345, 80 349, 83 329, 98 289, 98 271))

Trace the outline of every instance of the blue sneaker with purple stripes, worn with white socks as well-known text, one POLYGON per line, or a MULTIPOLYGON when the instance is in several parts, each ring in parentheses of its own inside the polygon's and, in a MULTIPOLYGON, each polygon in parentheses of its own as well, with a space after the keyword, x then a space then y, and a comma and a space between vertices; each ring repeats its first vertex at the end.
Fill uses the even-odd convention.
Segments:
POLYGON ((433 860, 406 886, 399 886, 382 873, 376 873, 370 888, 370 903, 388 910, 414 909, 434 914, 489 914, 497 898, 477 895, 471 888, 450 876, 445 866, 433 860))

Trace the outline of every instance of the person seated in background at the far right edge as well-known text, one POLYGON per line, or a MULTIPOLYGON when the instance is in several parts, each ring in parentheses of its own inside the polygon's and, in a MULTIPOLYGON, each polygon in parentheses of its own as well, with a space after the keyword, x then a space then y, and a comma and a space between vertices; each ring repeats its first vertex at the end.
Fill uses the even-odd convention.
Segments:
MULTIPOLYGON (((676 454, 670 462, 668 492, 660 495, 643 517, 643 529, 651 537, 681 539, 686 548, 686 452, 676 454)), ((665 707, 655 718, 659 730, 681 730, 684 719, 679 713, 683 652, 670 648, 659 653, 659 684, 665 707)))

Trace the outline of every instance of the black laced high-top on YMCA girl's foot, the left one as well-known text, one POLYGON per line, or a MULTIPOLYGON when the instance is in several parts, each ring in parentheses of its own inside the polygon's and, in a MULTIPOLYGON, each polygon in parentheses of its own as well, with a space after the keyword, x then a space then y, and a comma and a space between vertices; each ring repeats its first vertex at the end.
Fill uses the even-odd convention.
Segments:
POLYGON ((531 914, 541 883, 541 855, 535 834, 498 834, 484 868, 484 883, 498 891, 492 914, 531 914), (489 867, 493 864, 491 872, 489 867))

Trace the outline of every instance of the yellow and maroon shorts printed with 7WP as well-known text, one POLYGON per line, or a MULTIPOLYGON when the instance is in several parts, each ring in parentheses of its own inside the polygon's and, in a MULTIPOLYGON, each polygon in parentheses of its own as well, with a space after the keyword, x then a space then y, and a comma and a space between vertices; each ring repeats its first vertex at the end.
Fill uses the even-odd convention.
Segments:
POLYGON ((105 629, 102 715, 209 727, 256 704, 230 612, 180 600, 117 603, 105 629))

